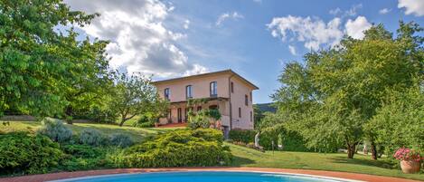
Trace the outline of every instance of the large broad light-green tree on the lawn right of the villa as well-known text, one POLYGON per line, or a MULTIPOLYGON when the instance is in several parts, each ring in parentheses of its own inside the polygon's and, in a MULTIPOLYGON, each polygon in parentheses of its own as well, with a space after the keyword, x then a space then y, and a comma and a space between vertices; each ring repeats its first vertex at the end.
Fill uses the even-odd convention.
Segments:
POLYGON ((400 23, 393 38, 382 24, 374 25, 363 40, 345 37, 339 46, 306 54, 304 63, 287 64, 273 95, 287 127, 309 147, 343 143, 353 158, 364 138, 373 141, 364 127, 388 91, 410 87, 422 70, 422 40, 415 34, 420 30, 418 24, 400 23))

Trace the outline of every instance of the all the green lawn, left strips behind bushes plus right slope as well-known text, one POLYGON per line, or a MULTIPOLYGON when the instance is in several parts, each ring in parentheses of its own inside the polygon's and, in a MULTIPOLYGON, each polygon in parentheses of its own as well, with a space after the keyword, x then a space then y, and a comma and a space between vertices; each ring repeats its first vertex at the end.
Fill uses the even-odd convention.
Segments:
MULTIPOLYGON (((0 132, 10 132, 18 130, 36 130, 41 126, 35 121, 10 121, 10 126, 3 126, 0 121, 0 132)), ((169 128, 135 128, 128 125, 119 127, 110 124, 89 124, 75 123, 69 125, 75 133, 82 129, 99 129, 105 134, 127 133, 135 141, 142 141, 146 136, 164 133, 169 128)), ((346 158, 344 153, 323 154, 313 152, 288 152, 288 151, 267 151, 265 153, 255 149, 240 147, 226 143, 231 148, 234 160, 233 167, 259 167, 259 168, 301 168, 316 170, 333 170, 353 173, 364 173, 387 177, 403 177, 424 180, 421 174, 403 174, 400 168, 392 169, 391 164, 382 160, 372 160, 369 156, 356 154, 353 159, 346 158)))

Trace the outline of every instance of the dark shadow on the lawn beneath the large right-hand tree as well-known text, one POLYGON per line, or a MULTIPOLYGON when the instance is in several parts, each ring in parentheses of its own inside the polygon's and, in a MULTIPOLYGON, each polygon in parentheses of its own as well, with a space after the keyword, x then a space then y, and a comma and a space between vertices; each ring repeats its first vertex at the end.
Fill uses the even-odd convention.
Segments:
POLYGON ((377 167, 377 168, 393 168, 393 165, 390 162, 380 160, 372 160, 365 158, 345 158, 345 157, 335 157, 334 163, 344 163, 344 164, 353 164, 353 165, 361 165, 368 167, 377 167))

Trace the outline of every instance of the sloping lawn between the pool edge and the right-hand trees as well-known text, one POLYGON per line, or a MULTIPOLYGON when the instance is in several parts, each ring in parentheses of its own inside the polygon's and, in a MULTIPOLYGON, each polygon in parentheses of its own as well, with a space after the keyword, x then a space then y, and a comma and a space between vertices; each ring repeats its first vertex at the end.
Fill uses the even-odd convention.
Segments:
POLYGON ((388 162, 372 160, 369 156, 359 154, 356 154, 353 159, 349 159, 344 153, 324 154, 288 151, 267 151, 263 153, 233 144, 226 145, 230 146, 231 153, 235 157, 232 164, 234 167, 333 170, 424 180, 422 172, 421 174, 403 174, 400 168, 392 169, 388 162))

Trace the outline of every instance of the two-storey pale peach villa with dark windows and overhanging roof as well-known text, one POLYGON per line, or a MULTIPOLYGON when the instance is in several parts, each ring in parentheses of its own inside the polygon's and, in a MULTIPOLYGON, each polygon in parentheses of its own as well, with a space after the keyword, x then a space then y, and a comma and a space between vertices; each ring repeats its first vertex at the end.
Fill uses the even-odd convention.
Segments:
POLYGON ((184 123, 189 110, 217 109, 224 133, 231 129, 253 129, 252 91, 258 90, 250 81, 231 70, 154 81, 161 98, 170 101, 166 118, 160 124, 184 123), (201 105, 187 106, 190 100, 201 105))

